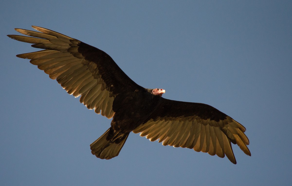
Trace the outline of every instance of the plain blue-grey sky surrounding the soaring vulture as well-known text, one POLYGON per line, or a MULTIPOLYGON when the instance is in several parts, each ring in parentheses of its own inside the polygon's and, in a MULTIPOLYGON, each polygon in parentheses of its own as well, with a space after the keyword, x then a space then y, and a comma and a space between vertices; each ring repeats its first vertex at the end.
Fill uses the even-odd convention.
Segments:
POLYGON ((289 185, 292 1, 1 2, 0 185, 289 185), (206 103, 243 124, 237 164, 131 133, 118 157, 89 145, 110 120, 15 57, 14 28, 58 31, 109 54, 167 99, 206 103))

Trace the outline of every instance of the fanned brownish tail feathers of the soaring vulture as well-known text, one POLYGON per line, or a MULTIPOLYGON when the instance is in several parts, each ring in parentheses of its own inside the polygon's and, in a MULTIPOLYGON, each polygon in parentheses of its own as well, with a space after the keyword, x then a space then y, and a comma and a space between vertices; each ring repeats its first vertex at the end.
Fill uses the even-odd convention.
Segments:
POLYGON ((110 128, 90 145, 91 153, 100 159, 111 159, 119 155, 129 135, 123 135, 117 143, 117 140, 108 139, 109 134, 110 128))

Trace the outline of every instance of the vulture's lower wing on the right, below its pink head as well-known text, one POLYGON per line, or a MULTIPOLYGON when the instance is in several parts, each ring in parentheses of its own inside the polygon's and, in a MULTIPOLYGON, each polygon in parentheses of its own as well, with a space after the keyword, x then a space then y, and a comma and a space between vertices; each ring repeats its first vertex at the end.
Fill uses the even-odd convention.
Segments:
POLYGON ((203 103, 188 103, 161 98, 148 119, 133 130, 150 141, 163 145, 192 148, 197 152, 228 157, 236 164, 231 143, 251 155, 244 126, 216 108, 203 103))

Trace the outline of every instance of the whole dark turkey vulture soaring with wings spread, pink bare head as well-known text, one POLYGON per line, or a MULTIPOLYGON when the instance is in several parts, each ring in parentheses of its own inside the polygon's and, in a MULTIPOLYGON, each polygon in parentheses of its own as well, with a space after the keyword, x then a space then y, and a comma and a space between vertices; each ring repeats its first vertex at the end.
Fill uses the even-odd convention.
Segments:
POLYGON ((163 145, 226 155, 234 164, 231 142, 251 155, 245 127, 216 108, 164 99, 165 90, 136 84, 102 50, 49 29, 32 28, 39 32, 15 29, 27 36, 8 37, 44 50, 16 56, 31 59, 69 94, 81 96, 88 109, 112 118, 111 127, 90 145, 96 157, 119 155, 131 131, 163 145))

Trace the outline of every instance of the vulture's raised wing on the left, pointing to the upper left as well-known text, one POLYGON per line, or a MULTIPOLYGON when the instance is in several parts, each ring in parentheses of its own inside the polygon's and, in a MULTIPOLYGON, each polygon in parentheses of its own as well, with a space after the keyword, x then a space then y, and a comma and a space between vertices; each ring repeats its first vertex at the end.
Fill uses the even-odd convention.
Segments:
POLYGON ((80 102, 88 109, 112 118, 116 95, 140 87, 102 50, 49 29, 32 27, 40 32, 15 29, 27 36, 8 36, 45 50, 17 57, 31 59, 32 64, 56 79, 69 94, 81 96, 80 102))

